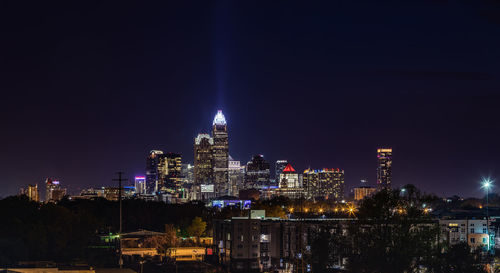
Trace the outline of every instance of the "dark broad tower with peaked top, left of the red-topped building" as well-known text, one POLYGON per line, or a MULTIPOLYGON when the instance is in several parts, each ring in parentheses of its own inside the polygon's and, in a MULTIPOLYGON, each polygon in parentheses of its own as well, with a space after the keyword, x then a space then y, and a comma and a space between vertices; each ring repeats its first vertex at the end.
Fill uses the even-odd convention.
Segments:
POLYGON ((263 155, 255 155, 248 161, 245 173, 245 188, 257 189, 263 186, 269 186, 270 164, 264 159, 263 155))

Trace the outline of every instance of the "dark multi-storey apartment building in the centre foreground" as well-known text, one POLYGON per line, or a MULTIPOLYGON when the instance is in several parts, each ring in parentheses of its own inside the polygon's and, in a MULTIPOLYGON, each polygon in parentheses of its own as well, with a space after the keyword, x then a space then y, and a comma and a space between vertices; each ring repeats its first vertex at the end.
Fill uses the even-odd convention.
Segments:
MULTIPOLYGON (((311 245, 321 229, 347 230, 349 219, 269 218, 251 211, 249 217, 214 220, 214 243, 220 262, 231 272, 297 272, 311 266, 311 245)), ((344 259, 338 259, 343 266, 344 259)))

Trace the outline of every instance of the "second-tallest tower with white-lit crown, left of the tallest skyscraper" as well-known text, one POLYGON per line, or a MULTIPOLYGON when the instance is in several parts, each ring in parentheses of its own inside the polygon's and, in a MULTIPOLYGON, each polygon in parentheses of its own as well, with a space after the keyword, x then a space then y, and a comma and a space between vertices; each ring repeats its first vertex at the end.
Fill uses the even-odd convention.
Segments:
POLYGON ((214 139, 208 134, 198 134, 194 139, 194 183, 213 184, 214 167, 212 146, 214 139))

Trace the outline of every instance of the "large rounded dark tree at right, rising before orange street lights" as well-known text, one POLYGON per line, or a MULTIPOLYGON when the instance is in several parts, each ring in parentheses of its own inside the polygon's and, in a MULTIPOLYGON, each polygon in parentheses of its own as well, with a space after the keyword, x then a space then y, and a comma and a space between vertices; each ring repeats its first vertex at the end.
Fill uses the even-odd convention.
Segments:
POLYGON ((439 227, 424 212, 418 189, 405 188, 405 194, 382 190, 361 203, 345 240, 350 272, 418 272, 431 260, 439 227))

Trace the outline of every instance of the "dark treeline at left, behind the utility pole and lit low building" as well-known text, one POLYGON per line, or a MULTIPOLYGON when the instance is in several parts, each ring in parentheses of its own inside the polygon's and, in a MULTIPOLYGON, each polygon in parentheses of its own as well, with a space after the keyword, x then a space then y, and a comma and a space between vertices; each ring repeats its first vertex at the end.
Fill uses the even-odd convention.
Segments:
MULTIPOLYGON (((0 265, 19 261, 91 261, 99 250, 99 234, 116 233, 118 202, 62 200, 57 204, 29 201, 25 196, 0 200, 0 265)), ((210 218, 203 204, 170 205, 142 200, 123 201, 123 231, 164 231, 173 224, 181 233, 196 216, 210 218)), ((109 253, 108 253, 109 254, 109 253)), ((112 253, 111 253, 112 254, 112 253)), ((100 261, 96 261, 100 262, 100 261)))

